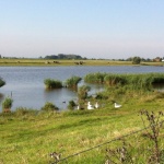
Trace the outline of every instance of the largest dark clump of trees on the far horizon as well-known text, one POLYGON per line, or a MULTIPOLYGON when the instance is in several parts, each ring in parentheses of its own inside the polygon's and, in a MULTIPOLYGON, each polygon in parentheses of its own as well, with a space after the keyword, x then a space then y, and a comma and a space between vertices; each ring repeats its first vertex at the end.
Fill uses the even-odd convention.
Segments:
POLYGON ((84 59, 79 55, 65 55, 65 54, 59 54, 59 55, 49 55, 46 56, 45 59, 84 59))

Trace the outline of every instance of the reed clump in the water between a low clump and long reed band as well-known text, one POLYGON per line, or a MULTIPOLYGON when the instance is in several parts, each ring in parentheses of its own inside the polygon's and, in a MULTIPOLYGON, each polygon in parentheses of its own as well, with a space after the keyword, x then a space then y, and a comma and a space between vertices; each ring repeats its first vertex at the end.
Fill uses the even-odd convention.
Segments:
POLYGON ((78 86, 78 83, 81 81, 82 79, 80 77, 75 77, 73 75, 72 78, 68 79, 66 81, 66 85, 67 87, 70 87, 70 89, 77 89, 78 86))

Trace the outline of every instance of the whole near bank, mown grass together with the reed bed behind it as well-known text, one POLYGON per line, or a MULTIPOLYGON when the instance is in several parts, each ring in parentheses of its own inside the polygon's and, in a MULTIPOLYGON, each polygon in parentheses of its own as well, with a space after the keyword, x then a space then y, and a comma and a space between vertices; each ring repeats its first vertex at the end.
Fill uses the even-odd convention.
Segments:
POLYGON ((130 152, 133 163, 162 163, 164 93, 152 85, 164 83, 163 73, 89 73, 85 80, 102 83, 105 90, 92 96, 87 94, 91 90, 87 85, 80 86, 75 102, 81 106, 79 110, 74 109, 78 104, 71 101, 71 110, 57 110, 56 105, 48 102, 40 110, 22 107, 15 112, 1 113, 0 163, 52 164, 56 162, 49 155, 52 152, 61 154, 61 159, 83 152, 60 163, 105 164, 113 160, 106 154, 120 150, 120 147, 130 152), (87 102, 98 102, 99 107, 87 110, 87 102), (121 107, 116 109, 114 102, 121 104, 121 107), (149 119, 140 116, 142 109, 150 113, 145 113, 149 119), (152 128, 154 132, 151 133, 151 128, 147 129, 149 120, 155 126, 161 124, 160 130, 152 128), (128 142, 126 147, 121 144, 122 141, 128 142), (93 147, 96 149, 91 149, 93 147))

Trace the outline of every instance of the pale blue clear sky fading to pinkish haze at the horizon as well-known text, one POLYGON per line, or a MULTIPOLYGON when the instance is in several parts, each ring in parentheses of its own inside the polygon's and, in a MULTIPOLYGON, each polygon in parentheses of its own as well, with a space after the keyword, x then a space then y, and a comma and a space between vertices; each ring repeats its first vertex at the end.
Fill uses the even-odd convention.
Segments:
POLYGON ((164 0, 0 0, 0 55, 164 57, 164 0))

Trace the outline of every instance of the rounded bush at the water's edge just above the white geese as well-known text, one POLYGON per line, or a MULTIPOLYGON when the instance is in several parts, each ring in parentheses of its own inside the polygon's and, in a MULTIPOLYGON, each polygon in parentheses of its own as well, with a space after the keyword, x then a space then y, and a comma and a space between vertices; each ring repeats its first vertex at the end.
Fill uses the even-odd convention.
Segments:
POLYGON ((80 99, 85 99, 87 97, 87 92, 91 90, 90 86, 86 86, 86 85, 82 85, 79 87, 78 90, 78 97, 79 97, 79 101, 80 99))

